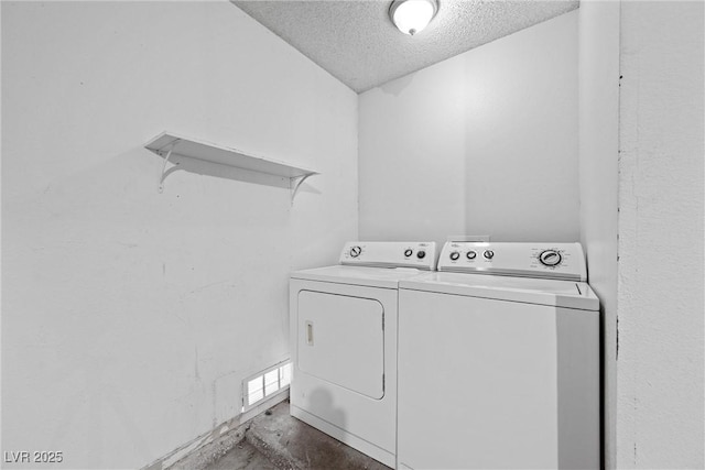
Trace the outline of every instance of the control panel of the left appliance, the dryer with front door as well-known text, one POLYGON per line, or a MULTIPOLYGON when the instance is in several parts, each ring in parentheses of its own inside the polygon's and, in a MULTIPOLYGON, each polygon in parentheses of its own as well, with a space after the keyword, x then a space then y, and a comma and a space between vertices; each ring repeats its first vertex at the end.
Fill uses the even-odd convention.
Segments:
POLYGON ((343 247, 340 264, 377 267, 436 269, 435 241, 350 241, 343 247))

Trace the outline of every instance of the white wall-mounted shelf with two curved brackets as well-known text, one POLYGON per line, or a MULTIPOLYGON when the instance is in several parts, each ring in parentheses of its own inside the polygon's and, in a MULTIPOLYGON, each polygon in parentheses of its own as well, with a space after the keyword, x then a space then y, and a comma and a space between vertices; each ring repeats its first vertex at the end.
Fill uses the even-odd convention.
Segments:
POLYGON ((196 139, 185 138, 183 135, 176 135, 172 132, 162 132, 145 143, 144 147, 164 159, 164 165, 162 166, 162 174, 159 181, 160 193, 164 190, 166 163, 169 163, 172 154, 289 178, 292 203, 296 195, 296 190, 299 190, 299 187, 304 179, 308 176, 319 174, 312 170, 292 166, 286 163, 276 162, 262 156, 256 156, 241 152, 237 149, 230 149, 196 139))

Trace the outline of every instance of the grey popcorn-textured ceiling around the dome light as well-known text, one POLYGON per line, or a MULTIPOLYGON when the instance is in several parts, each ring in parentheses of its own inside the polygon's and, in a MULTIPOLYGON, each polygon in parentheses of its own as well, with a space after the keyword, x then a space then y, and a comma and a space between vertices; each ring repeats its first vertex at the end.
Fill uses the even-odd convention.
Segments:
POLYGON ((330 75, 361 92, 566 13, 577 0, 438 0, 414 36, 389 19, 391 0, 232 0, 330 75))

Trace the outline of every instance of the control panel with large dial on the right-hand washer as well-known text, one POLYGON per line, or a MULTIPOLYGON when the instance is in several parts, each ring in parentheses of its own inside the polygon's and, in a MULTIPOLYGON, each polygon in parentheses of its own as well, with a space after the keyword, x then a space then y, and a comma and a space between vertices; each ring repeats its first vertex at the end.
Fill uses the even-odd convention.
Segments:
POLYGON ((587 281, 579 243, 507 243, 449 241, 438 271, 587 281))

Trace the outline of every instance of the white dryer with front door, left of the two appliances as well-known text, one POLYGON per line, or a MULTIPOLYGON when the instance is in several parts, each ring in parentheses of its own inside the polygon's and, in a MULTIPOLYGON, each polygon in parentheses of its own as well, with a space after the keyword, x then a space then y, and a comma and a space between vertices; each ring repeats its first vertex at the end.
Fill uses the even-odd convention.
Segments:
POLYGON ((389 467, 398 286, 434 270, 435 260, 435 242, 351 242, 340 265, 291 275, 291 415, 389 467))

